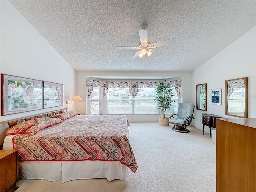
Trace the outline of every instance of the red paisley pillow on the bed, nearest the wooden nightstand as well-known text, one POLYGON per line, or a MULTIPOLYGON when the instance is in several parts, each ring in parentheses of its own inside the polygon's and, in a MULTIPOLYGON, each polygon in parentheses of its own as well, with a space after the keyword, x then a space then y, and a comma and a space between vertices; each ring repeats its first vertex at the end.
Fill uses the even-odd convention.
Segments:
POLYGON ((30 134, 34 135, 38 131, 50 127, 52 125, 63 122, 61 119, 57 118, 36 118, 27 120, 21 124, 15 125, 4 132, 5 135, 13 134, 30 134))

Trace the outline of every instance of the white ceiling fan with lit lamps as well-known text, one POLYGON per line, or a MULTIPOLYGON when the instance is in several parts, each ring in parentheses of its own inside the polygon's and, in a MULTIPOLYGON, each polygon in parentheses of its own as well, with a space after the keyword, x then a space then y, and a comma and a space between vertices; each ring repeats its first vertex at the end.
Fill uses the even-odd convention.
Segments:
POLYGON ((140 35, 140 44, 138 47, 116 47, 117 49, 140 49, 134 56, 132 56, 130 59, 136 58, 136 56, 139 56, 140 58, 143 58, 144 55, 151 56, 154 54, 154 56, 158 57, 160 53, 156 52, 152 48, 156 47, 161 47, 161 46, 166 46, 166 45, 171 45, 176 43, 176 39, 168 39, 165 41, 160 41, 157 43, 150 44, 148 42, 148 31, 147 31, 148 26, 147 25, 142 25, 140 26, 139 30, 139 35, 140 35))

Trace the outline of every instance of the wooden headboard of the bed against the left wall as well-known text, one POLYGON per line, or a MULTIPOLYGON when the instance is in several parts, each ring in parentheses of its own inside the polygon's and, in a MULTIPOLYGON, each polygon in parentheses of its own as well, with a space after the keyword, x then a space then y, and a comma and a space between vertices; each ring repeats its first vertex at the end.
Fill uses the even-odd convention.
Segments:
POLYGON ((34 119, 34 118, 50 117, 52 115, 66 112, 66 111, 67 111, 67 108, 64 108, 64 109, 60 109, 60 110, 50 111, 47 113, 35 114, 35 115, 31 115, 31 116, 25 116, 25 117, 21 117, 21 118, 16 118, 16 119, 11 119, 11 120, 0 122, 0 124, 1 124, 0 145, 2 145, 4 143, 4 138, 5 138, 4 132, 6 130, 8 130, 8 128, 11 128, 12 126, 14 126, 16 124, 20 124, 26 120, 30 120, 30 119, 34 119))

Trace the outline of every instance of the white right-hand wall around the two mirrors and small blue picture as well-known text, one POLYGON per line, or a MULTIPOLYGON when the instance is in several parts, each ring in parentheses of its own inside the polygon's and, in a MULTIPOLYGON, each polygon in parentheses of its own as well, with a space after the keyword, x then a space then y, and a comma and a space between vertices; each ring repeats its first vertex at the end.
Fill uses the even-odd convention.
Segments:
MULTIPOLYGON (((248 118, 256 118, 256 27, 192 72, 194 103, 196 84, 207 83, 207 111, 195 109, 192 125, 202 130, 202 113, 235 118, 225 115, 225 80, 243 77, 248 77, 248 118), (222 105, 210 104, 210 89, 216 88, 222 89, 222 105)), ((209 133, 208 126, 205 131, 209 133)))

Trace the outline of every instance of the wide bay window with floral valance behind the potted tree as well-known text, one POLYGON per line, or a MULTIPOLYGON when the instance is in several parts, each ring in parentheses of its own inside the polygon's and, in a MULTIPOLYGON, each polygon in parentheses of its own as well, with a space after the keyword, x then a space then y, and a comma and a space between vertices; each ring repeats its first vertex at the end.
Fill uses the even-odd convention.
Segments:
MULTIPOLYGON (((105 82, 87 80, 90 114, 159 114, 155 87, 158 82, 105 82), (104 98, 102 100, 102 98, 104 98)), ((176 114, 180 98, 181 80, 170 81, 173 100, 168 114, 176 114)))

